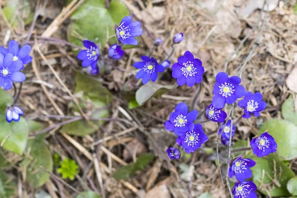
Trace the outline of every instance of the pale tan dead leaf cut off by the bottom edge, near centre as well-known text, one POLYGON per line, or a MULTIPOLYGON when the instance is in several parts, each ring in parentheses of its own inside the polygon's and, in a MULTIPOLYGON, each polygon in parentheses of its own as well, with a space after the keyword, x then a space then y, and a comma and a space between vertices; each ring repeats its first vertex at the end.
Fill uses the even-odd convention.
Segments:
POLYGON ((167 187, 171 184, 171 182, 171 177, 167 177, 162 180, 148 191, 145 198, 170 198, 170 192, 167 187))

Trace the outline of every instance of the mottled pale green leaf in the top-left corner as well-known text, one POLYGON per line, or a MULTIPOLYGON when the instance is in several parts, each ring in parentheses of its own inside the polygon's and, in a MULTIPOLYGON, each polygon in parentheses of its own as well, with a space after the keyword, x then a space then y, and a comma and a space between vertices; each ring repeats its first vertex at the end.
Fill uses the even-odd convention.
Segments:
POLYGON ((31 23, 34 17, 27 0, 8 0, 6 6, 2 9, 2 13, 12 27, 17 27, 19 24, 16 13, 22 18, 24 25, 31 23))

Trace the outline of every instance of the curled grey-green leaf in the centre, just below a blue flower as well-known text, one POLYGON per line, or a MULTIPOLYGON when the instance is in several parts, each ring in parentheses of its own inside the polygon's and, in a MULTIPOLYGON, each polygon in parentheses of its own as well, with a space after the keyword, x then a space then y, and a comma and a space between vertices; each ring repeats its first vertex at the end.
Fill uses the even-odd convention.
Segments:
POLYGON ((159 85, 157 83, 149 81, 147 84, 141 86, 136 91, 136 101, 139 105, 145 103, 148 99, 153 96, 160 96, 167 92, 168 90, 172 90, 177 87, 177 84, 174 85, 159 85))

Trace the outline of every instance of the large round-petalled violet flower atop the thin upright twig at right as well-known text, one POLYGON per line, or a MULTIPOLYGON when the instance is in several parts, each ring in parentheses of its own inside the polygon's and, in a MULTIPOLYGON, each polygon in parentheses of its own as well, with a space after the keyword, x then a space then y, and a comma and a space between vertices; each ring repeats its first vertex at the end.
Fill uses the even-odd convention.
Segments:
POLYGON ((225 103, 232 104, 237 99, 246 94, 246 89, 240 86, 241 79, 237 76, 228 77, 225 72, 219 72, 216 77, 216 83, 213 88, 214 97, 212 105, 214 108, 221 109, 225 103))

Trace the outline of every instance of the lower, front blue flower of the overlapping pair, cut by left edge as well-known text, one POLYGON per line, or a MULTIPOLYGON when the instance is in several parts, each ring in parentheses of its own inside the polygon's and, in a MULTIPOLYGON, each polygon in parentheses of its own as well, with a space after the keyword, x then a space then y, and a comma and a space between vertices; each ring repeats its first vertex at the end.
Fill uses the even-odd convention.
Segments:
POLYGON ((5 90, 12 88, 14 82, 23 82, 26 80, 25 74, 19 70, 24 67, 21 60, 13 61, 13 54, 7 53, 4 57, 0 54, 0 87, 5 90))

